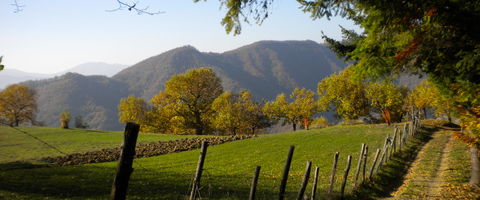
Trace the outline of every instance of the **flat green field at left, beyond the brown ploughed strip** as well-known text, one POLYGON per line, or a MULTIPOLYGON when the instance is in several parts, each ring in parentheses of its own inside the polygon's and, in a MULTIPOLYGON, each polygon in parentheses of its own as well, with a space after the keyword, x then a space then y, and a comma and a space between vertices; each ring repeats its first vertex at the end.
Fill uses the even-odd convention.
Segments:
MULTIPOLYGON (((117 147, 123 141, 123 134, 118 131, 0 126, 0 163, 62 155, 25 133, 33 135, 67 154, 117 147)), ((184 137, 192 136, 140 134, 138 141, 144 143, 184 137)))

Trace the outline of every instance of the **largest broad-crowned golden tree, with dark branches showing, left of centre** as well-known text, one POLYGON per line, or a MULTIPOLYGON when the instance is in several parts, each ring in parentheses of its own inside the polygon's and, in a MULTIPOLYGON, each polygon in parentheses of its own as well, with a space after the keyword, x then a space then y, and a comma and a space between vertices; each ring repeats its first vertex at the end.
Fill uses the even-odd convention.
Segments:
POLYGON ((168 108, 188 129, 202 135, 211 129, 213 101, 223 93, 220 79, 211 68, 190 69, 174 75, 165 83, 165 90, 153 97, 168 108))

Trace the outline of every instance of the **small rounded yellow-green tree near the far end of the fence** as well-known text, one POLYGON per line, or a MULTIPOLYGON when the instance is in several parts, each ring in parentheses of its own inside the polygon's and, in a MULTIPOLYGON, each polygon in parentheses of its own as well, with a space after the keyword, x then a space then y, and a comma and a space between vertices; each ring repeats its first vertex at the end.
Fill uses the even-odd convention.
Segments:
POLYGON ((401 120, 404 96, 400 87, 395 86, 390 81, 373 82, 367 85, 365 94, 372 109, 380 111, 382 118, 388 125, 392 123, 393 115, 397 116, 395 117, 396 120, 401 120))

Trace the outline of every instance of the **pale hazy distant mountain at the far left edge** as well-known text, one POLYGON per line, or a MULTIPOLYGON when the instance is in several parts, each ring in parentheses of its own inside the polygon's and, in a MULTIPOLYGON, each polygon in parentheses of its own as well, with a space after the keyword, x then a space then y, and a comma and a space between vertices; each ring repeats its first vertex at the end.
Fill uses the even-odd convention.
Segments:
POLYGON ((40 80, 48 77, 51 77, 51 75, 29 73, 16 69, 5 68, 0 72, 0 89, 11 84, 20 83, 22 81, 40 80))

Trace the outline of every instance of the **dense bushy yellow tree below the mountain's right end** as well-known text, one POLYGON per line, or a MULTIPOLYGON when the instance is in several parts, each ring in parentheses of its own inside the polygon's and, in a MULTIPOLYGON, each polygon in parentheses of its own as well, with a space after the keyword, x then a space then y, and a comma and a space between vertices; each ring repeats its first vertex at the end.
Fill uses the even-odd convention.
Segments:
POLYGON ((332 74, 318 83, 319 105, 335 109, 346 120, 357 119, 369 112, 365 84, 352 78, 351 68, 332 74))

